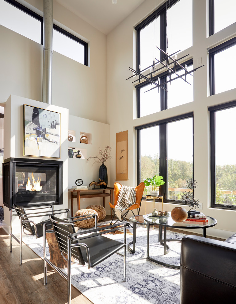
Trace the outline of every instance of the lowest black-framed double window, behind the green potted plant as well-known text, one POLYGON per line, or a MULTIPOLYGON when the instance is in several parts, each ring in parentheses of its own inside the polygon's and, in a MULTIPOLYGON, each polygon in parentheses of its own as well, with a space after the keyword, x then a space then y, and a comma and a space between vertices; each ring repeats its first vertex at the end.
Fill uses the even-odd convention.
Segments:
MULTIPOLYGON (((186 181, 193 178, 193 112, 135 127, 137 130, 137 184, 163 176, 165 202, 181 202, 186 181), (183 140, 184 136, 184 140, 183 140)), ((145 188, 144 195, 151 189, 145 188)))

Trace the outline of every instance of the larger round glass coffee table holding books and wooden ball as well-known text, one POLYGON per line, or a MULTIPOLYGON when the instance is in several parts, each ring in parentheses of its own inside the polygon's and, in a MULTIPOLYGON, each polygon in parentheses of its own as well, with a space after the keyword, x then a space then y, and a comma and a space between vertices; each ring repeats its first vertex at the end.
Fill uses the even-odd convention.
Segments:
POLYGON ((153 217, 150 214, 143 216, 144 221, 147 222, 147 258, 151 261, 161 264, 166 267, 180 269, 180 266, 178 265, 171 265, 167 263, 163 263, 161 261, 158 261, 157 259, 151 258, 149 256, 149 236, 150 236, 150 225, 157 225, 159 227, 159 234, 158 234, 158 242, 164 246, 164 254, 167 254, 169 251, 169 245, 166 244, 166 242, 181 242, 181 240, 176 239, 166 239, 166 228, 180 228, 180 229, 203 229, 203 236, 206 237, 206 229, 212 226, 215 226, 217 224, 217 220, 215 220, 213 217, 206 216, 206 219, 208 222, 182 222, 182 223, 176 223, 172 220, 170 216, 170 212, 168 212, 167 216, 156 216, 153 217), (164 228, 164 240, 162 237, 162 231, 164 228))

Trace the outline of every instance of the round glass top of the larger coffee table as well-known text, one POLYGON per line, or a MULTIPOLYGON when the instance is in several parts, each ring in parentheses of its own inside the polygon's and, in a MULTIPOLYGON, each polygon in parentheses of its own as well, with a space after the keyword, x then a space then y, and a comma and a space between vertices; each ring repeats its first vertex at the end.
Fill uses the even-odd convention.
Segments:
POLYGON ((207 228, 212 227, 217 224, 217 220, 213 217, 206 216, 206 219, 208 222, 182 222, 182 223, 176 223, 174 220, 172 220, 170 216, 171 212, 168 212, 168 216, 158 216, 158 217, 152 217, 147 215, 144 215, 143 218, 146 222, 150 224, 155 224, 159 226, 166 226, 166 227, 173 227, 173 228, 207 228))

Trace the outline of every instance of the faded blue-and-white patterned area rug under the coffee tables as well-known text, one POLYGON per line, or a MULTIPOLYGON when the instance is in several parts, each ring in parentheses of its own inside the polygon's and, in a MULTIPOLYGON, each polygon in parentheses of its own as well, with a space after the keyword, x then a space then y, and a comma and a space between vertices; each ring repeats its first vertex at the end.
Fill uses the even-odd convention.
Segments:
MULTIPOLYGON (((103 226, 107 223, 101 223, 103 226)), ((132 228, 129 228, 130 232, 132 228)), ((121 234, 109 234, 110 238, 122 240, 121 234)), ((184 234, 167 230, 167 239, 181 239, 184 234)), ((127 245, 133 236, 127 234, 127 245)), ((43 240, 24 237, 24 243, 37 255, 43 257, 43 240)), ((180 263, 180 243, 169 242, 170 251, 157 245, 158 229, 150 228, 149 255, 170 264, 180 263)), ((138 226, 135 253, 127 250, 127 281, 123 282, 123 258, 113 255, 97 267, 74 265, 72 284, 94 304, 179 303, 180 271, 158 265, 146 258, 147 228, 138 226)), ((122 251, 121 251, 122 253, 122 251)), ((48 254, 49 256, 49 251, 48 254)), ((23 254, 24 259, 24 254, 23 254)), ((24 263, 24 262, 23 262, 24 263)), ((67 269, 63 270, 67 273, 67 269)))

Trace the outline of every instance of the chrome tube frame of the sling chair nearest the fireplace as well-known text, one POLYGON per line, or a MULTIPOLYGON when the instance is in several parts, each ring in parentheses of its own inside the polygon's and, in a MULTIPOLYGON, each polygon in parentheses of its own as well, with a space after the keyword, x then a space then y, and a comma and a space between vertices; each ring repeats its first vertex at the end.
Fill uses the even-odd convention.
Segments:
MULTIPOLYGON (((20 244, 20 265, 22 264, 22 235, 23 233, 25 235, 32 235, 30 233, 25 232, 25 228, 23 227, 24 223, 32 223, 34 226, 35 230, 35 237, 36 239, 39 238, 37 228, 36 228, 36 223, 33 220, 28 220, 28 218, 37 218, 37 217, 44 217, 44 216, 49 216, 51 214, 63 214, 66 213, 66 216, 69 215, 70 209, 59 209, 55 210, 53 208, 53 205, 47 205, 47 206, 37 206, 37 207, 25 207, 21 206, 20 208, 24 208, 25 211, 30 211, 30 210, 41 210, 41 209, 48 209, 51 208, 51 211, 41 211, 41 212, 32 212, 32 213, 23 213, 20 216, 18 214, 13 214, 13 212, 17 212, 17 206, 14 204, 13 207, 10 209, 10 252, 12 252, 12 238, 14 238, 19 244, 20 244), (20 239, 18 239, 13 233, 12 233, 12 217, 13 216, 18 216, 20 219, 20 239), (27 219, 25 219, 27 218, 27 219)), ((40 236, 41 237, 41 236, 40 236)))

